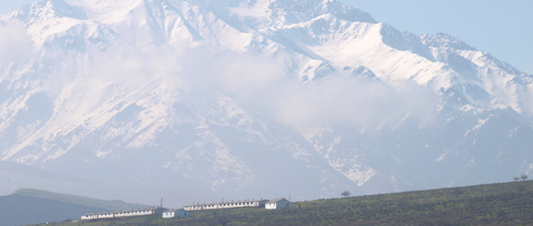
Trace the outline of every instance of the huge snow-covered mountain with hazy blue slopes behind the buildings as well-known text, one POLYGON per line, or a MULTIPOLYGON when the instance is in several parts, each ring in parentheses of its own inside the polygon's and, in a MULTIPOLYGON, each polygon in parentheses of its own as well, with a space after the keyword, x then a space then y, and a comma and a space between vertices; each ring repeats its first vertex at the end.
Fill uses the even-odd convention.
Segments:
POLYGON ((533 169, 532 75, 340 1, 40 0, 0 34, 6 162, 183 203, 533 169))

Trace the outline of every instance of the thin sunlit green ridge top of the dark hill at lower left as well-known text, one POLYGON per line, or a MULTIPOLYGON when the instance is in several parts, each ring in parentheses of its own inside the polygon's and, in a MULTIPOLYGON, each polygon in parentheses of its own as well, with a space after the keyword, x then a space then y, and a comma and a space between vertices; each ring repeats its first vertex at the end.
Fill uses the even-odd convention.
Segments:
POLYGON ((125 203, 124 201, 104 201, 96 198, 87 198, 84 196, 74 196, 69 194, 59 194, 39 189, 18 189, 17 191, 13 192, 13 195, 46 198, 50 200, 62 201, 65 203, 72 203, 81 206, 103 208, 105 210, 130 210, 147 207, 141 204, 125 203))

